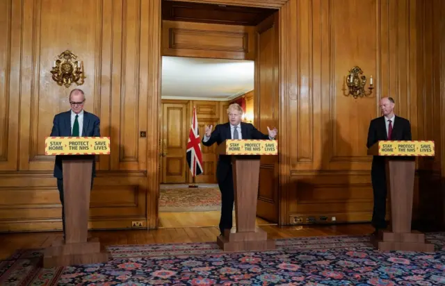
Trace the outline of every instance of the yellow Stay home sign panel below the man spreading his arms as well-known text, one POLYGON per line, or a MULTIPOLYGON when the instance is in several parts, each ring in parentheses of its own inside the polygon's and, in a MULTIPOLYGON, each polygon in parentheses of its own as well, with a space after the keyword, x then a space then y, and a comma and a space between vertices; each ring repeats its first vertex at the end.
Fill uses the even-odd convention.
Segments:
POLYGON ((226 140, 226 155, 277 155, 276 140, 226 140))

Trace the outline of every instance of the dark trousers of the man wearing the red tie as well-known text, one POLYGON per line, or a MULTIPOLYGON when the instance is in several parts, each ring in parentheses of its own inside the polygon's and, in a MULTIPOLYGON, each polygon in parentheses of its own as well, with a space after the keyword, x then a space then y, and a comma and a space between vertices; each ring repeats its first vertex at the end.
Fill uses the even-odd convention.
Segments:
POLYGON ((371 224, 374 228, 386 228, 385 221, 387 208, 387 181, 385 161, 373 162, 371 169, 371 180, 373 183, 374 208, 371 224))

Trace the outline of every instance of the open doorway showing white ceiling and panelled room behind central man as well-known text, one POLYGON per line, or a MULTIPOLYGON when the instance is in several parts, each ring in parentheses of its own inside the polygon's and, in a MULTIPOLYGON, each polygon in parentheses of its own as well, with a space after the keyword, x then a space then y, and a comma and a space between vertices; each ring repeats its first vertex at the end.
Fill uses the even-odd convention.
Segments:
MULTIPOLYGON (((227 122, 227 107, 238 103, 244 122, 254 121, 254 61, 164 56, 161 96, 161 185, 159 227, 218 226, 221 199, 216 181, 216 144, 201 145, 202 171, 193 177, 186 142, 196 110, 204 126, 227 122)), ((258 218, 257 224, 268 224, 258 218)))

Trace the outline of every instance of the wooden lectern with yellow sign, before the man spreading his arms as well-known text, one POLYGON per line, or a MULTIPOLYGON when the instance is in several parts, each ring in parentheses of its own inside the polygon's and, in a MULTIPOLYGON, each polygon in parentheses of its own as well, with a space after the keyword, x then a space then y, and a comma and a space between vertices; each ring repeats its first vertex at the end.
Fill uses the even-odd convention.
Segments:
POLYGON ((224 251, 275 249, 275 241, 255 224, 261 155, 277 155, 275 140, 226 140, 216 149, 219 155, 232 156, 236 230, 225 230, 217 237, 224 251))

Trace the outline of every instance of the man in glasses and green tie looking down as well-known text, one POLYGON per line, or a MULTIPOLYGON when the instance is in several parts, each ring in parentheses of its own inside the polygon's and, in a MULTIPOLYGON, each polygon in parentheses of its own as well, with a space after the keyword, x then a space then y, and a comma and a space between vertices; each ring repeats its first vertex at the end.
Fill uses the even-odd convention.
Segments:
MULTIPOLYGON (((71 110, 59 113, 54 117, 51 137, 100 137, 99 117, 83 110, 85 103, 85 94, 82 90, 74 89, 70 92, 71 110)), ((92 180, 96 176, 95 155, 56 155, 54 162, 54 177, 57 178, 57 188, 60 194, 60 203, 62 203, 62 224, 63 238, 65 239, 65 202, 63 199, 63 159, 74 158, 92 158, 92 180)))

